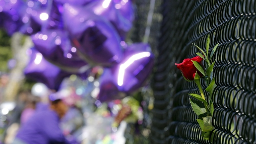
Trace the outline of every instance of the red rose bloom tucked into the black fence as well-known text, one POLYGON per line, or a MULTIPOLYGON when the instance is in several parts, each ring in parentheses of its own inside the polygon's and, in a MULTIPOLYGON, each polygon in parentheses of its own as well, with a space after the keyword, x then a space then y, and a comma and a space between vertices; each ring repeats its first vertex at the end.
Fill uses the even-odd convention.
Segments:
POLYGON ((183 76, 187 78, 187 80, 194 80, 196 72, 199 74, 200 77, 202 77, 203 74, 197 70, 192 61, 197 61, 200 64, 202 60, 203 59, 201 57, 197 56, 193 57, 192 59, 184 59, 182 63, 175 63, 175 65, 177 65, 177 68, 181 71, 183 76))

